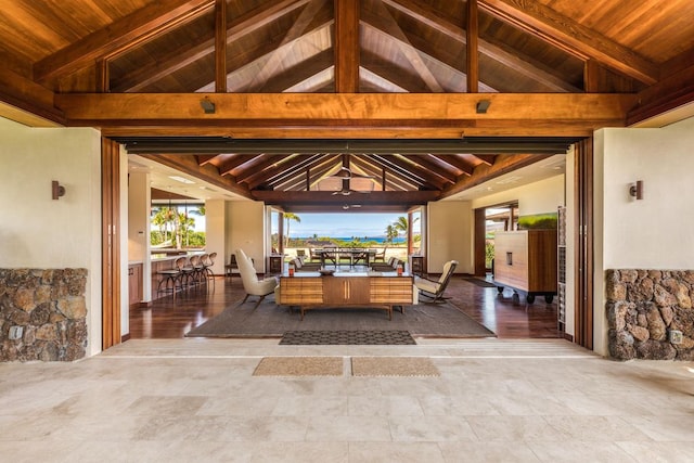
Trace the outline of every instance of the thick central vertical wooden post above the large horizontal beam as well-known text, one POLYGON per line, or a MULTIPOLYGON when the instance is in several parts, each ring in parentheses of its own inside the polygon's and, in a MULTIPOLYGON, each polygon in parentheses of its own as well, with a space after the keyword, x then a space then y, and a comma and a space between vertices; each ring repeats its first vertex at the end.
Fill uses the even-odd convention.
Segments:
POLYGON ((359 91, 359 0, 334 0, 335 91, 359 91))

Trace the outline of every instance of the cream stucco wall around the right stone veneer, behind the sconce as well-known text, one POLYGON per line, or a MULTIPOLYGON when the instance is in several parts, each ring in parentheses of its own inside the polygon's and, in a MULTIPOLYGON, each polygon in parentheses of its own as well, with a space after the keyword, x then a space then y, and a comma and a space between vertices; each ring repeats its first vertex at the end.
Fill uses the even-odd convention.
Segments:
POLYGON ((660 129, 595 132, 595 350, 607 355, 609 269, 694 269, 694 118, 660 129), (629 187, 644 182, 644 198, 629 187))

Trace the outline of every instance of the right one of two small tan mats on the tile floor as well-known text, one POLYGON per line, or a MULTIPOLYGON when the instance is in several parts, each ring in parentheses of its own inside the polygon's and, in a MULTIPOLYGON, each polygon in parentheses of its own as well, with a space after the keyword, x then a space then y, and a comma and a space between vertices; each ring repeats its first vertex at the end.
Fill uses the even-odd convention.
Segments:
POLYGON ((354 376, 439 376, 426 357, 352 357, 354 376))

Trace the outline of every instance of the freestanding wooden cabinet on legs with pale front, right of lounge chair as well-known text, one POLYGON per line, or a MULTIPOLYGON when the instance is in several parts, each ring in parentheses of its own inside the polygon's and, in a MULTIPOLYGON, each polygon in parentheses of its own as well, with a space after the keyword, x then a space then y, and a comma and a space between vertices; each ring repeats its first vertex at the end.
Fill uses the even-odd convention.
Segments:
POLYGON ((497 232, 494 236, 494 283, 527 293, 527 301, 556 294, 556 230, 497 232))

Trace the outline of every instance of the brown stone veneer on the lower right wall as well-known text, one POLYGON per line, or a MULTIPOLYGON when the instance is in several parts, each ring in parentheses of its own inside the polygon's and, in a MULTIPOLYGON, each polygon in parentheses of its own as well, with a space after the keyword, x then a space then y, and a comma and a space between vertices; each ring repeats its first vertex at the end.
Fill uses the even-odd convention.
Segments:
POLYGON ((612 357, 694 360, 694 270, 607 270, 605 292, 612 357))

